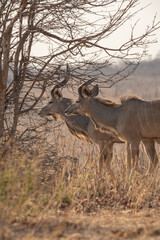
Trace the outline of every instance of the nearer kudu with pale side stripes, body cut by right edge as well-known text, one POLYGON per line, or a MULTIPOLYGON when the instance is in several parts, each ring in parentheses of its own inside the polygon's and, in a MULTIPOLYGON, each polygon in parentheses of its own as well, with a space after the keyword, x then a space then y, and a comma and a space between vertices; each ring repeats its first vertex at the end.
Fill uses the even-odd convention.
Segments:
POLYGON ((132 178, 138 168, 139 144, 142 141, 150 158, 151 173, 158 163, 155 141, 160 143, 160 101, 147 102, 138 97, 121 99, 117 104, 109 100, 96 98, 98 85, 90 90, 87 85, 92 80, 82 84, 79 89, 79 99, 65 113, 86 114, 95 124, 96 129, 104 131, 109 128, 122 141, 127 142, 128 174, 132 178), (129 159, 132 159, 130 161, 129 159))

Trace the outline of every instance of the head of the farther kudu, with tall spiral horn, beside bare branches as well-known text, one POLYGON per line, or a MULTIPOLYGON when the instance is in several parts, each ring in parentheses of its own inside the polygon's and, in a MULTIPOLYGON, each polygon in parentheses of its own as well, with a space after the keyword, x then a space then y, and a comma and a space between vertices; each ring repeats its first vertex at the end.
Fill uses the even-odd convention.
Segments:
MULTIPOLYGON (((57 116, 61 116, 65 109, 68 107, 69 99, 63 98, 60 90, 69 80, 70 69, 67 64, 66 76, 62 82, 57 83, 51 90, 52 99, 49 103, 42 108, 39 112, 39 116, 52 116, 54 120, 57 120, 57 116)), ((71 104, 71 103, 70 103, 71 104)))

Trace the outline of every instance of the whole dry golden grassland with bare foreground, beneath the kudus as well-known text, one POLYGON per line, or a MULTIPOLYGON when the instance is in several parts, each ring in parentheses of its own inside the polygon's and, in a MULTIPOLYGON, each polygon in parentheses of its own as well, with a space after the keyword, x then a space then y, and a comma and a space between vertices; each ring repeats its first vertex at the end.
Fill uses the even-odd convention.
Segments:
MULTIPOLYGON (((33 129, 34 116, 29 124, 33 129)), ((135 173, 129 188, 124 144, 114 147, 113 182, 105 167, 98 174, 98 147, 61 121, 46 121, 23 139, 1 149, 0 239, 160 239, 160 163, 150 176, 135 173)), ((144 172, 148 164, 141 146, 144 172)))

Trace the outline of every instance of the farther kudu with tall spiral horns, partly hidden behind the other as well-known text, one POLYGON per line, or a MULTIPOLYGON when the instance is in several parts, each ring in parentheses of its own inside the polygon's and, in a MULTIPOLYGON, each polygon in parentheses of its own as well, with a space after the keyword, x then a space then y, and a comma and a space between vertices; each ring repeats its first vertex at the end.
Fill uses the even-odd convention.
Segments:
POLYGON ((91 119, 85 115, 82 116, 66 116, 65 110, 73 103, 69 98, 64 98, 59 88, 64 86, 69 79, 69 67, 67 67, 67 74, 62 82, 56 84, 51 90, 52 100, 42 108, 39 116, 52 116, 55 120, 57 117, 64 120, 69 131, 81 140, 86 140, 90 143, 96 143, 99 146, 99 171, 102 173, 105 164, 112 179, 115 179, 114 173, 111 169, 111 160, 113 155, 114 143, 123 143, 116 134, 102 133, 97 130, 91 119))

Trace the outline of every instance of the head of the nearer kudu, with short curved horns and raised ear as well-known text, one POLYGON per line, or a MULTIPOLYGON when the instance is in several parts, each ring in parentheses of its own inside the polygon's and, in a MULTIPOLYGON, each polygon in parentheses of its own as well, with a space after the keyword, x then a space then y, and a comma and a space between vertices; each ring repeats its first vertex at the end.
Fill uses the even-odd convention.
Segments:
POLYGON ((96 84, 91 90, 88 88, 88 85, 90 85, 94 80, 95 79, 90 79, 78 88, 79 98, 74 104, 67 108, 65 111, 66 115, 87 115, 87 107, 89 102, 92 101, 93 98, 99 93, 98 84, 96 84))

